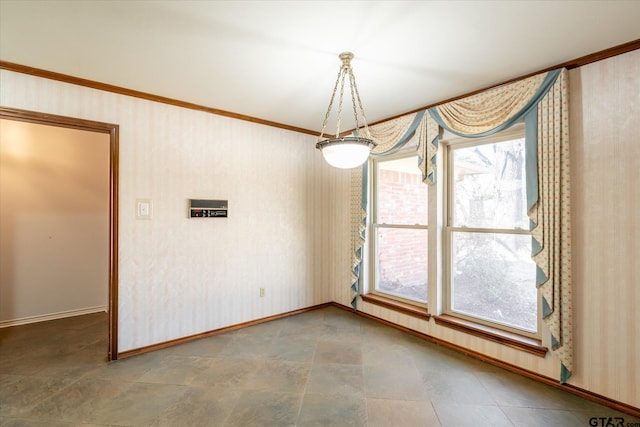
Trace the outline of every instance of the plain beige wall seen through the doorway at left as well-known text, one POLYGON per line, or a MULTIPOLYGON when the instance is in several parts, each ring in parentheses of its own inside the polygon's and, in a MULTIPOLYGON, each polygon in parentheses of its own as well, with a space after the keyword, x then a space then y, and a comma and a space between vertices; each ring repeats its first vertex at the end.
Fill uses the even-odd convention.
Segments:
POLYGON ((106 310, 109 136, 0 120, 0 324, 106 310))

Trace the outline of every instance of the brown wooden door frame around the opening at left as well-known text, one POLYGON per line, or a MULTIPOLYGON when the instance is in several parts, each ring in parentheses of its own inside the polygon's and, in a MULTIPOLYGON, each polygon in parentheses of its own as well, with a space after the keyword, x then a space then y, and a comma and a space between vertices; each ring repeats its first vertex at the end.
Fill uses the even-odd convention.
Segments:
POLYGON ((120 126, 74 117, 0 107, 0 118, 109 135, 109 344, 108 360, 118 358, 118 161, 120 126))

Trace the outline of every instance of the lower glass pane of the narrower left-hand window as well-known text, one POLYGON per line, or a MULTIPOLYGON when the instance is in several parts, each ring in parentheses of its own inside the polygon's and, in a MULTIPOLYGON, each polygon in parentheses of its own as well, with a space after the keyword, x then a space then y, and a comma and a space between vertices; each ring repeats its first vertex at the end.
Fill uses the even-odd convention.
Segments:
POLYGON ((376 290, 427 301, 427 230, 378 227, 376 290))

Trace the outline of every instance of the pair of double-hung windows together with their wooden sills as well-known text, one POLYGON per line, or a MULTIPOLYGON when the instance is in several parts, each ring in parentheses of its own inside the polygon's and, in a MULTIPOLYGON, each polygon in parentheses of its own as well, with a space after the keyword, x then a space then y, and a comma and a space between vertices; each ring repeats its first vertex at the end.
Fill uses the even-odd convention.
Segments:
POLYGON ((517 348, 544 354, 539 344, 526 347, 539 341, 541 316, 524 127, 441 140, 439 186, 423 183, 414 150, 370 163, 371 269, 363 299, 418 317, 429 316, 429 306, 442 325, 499 342, 508 336, 517 348), (429 271, 435 283, 428 284, 429 271))

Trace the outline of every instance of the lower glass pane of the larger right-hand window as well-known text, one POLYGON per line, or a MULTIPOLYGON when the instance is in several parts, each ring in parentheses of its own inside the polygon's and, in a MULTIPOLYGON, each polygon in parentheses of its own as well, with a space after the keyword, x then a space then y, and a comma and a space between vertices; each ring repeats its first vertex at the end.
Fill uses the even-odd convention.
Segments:
POLYGON ((531 236, 452 232, 451 309, 537 330, 531 236))

